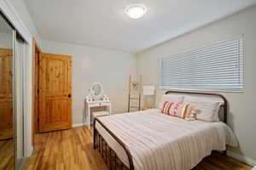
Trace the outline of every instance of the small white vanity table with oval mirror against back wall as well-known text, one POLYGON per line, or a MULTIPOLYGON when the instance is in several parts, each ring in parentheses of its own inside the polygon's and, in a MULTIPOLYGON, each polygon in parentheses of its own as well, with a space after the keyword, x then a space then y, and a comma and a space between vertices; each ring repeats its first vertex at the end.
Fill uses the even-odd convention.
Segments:
POLYGON ((108 96, 104 94, 102 84, 100 82, 95 82, 90 88, 90 93, 86 96, 85 99, 85 114, 87 120, 87 126, 90 129, 91 125, 91 109, 99 108, 102 111, 102 108, 106 108, 105 111, 108 111, 106 115, 111 115, 111 101, 108 99, 108 96))

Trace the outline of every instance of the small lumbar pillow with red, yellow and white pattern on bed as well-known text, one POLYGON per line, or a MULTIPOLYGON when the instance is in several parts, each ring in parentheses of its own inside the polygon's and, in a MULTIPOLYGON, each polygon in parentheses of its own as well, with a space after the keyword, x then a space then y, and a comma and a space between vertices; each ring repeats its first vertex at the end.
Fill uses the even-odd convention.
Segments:
POLYGON ((170 116, 177 116, 187 120, 195 120, 195 111, 193 105, 182 104, 180 102, 164 101, 160 112, 170 116))

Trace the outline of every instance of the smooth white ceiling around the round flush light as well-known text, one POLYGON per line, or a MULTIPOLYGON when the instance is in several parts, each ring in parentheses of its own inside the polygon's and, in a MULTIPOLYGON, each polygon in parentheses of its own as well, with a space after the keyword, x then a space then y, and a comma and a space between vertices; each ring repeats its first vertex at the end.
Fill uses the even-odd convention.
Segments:
POLYGON ((256 0, 25 0, 42 39, 135 53, 233 14, 256 0), (129 18, 124 7, 143 3, 129 18))

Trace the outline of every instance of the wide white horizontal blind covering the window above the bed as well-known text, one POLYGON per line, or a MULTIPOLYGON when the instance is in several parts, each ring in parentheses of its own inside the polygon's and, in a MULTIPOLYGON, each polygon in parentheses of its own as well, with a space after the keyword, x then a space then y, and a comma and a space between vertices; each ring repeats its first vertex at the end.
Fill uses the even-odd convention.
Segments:
POLYGON ((160 88, 241 91, 242 38, 161 58, 160 88))

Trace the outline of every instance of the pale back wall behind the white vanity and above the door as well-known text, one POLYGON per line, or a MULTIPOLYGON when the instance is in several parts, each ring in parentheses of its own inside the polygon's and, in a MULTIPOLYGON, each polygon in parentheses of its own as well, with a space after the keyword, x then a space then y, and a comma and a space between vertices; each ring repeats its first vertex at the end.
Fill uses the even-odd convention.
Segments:
POLYGON ((73 56, 73 125, 83 122, 84 99, 93 82, 102 82, 112 101, 113 113, 127 111, 128 76, 136 75, 133 54, 42 40, 43 53, 73 56))

